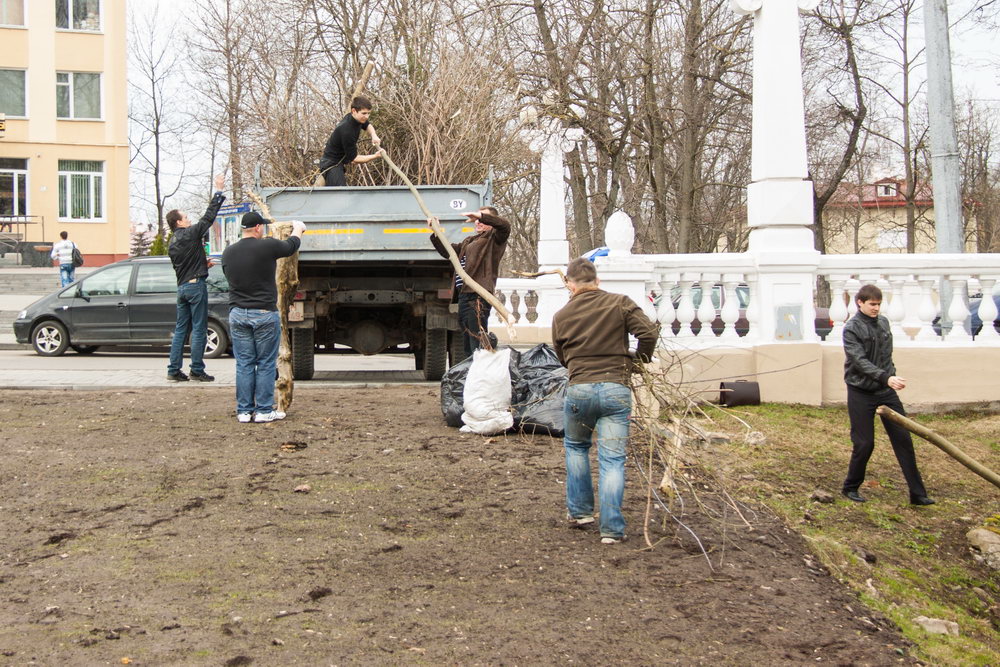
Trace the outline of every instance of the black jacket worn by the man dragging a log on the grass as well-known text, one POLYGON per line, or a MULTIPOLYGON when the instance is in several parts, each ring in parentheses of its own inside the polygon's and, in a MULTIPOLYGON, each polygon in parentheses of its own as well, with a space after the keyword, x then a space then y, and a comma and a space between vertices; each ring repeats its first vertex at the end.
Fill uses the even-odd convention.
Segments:
POLYGON ((844 382, 862 391, 881 391, 896 374, 889 320, 861 311, 844 325, 844 382))

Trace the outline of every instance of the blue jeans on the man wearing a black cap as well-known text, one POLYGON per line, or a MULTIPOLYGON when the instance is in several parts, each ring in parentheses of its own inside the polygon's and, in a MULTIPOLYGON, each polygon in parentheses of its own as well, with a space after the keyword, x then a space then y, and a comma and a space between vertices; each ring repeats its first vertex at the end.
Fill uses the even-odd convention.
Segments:
POLYGON ((274 409, 274 380, 281 343, 281 315, 276 310, 229 311, 229 333, 236 357, 236 412, 274 409))

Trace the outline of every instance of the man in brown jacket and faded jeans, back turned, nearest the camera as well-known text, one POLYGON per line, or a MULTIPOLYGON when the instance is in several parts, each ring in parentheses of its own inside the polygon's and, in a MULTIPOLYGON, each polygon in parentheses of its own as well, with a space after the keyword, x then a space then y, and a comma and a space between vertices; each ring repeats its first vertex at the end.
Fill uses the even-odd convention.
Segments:
POLYGON ((597 269, 574 259, 566 273, 571 292, 552 319, 556 355, 569 369, 563 412, 566 435, 566 509, 571 523, 594 523, 590 446, 597 434, 601 542, 625 540, 625 445, 632 412, 630 376, 635 361, 628 335, 639 339, 635 356, 647 362, 656 349, 659 327, 632 299, 598 288, 597 269))

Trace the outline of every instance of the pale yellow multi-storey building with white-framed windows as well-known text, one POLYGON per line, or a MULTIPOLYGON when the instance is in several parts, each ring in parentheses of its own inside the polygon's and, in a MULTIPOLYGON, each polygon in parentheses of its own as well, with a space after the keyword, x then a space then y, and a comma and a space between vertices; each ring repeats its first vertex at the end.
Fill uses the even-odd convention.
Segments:
POLYGON ((129 254, 125 2, 0 0, 0 226, 88 266, 129 254))

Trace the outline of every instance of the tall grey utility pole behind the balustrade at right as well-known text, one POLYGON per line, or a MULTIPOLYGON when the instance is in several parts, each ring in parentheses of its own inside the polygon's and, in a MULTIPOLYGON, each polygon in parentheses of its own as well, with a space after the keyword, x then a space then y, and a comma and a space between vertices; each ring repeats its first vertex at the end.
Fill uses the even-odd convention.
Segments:
MULTIPOLYGON (((927 112, 930 117, 931 180, 934 184, 934 230, 939 253, 965 249, 962 234, 962 198, 959 192, 958 138, 955 135, 955 96, 951 85, 951 45, 948 39, 948 3, 924 0, 924 40, 927 43, 927 112)), ((962 290, 963 300, 966 290, 962 290)), ((938 289, 941 330, 951 330, 948 316, 952 289, 942 277, 938 289)), ((956 323, 961 326, 961 323, 956 323)))

